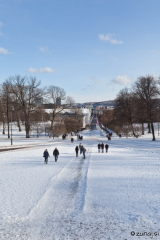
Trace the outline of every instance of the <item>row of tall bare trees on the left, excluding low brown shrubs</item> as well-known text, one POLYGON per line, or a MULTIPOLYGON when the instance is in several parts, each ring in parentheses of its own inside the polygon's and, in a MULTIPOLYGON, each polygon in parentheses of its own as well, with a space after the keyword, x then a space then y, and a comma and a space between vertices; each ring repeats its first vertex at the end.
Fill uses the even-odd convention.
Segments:
POLYGON ((8 138, 10 138, 9 127, 12 116, 17 122, 19 131, 21 131, 21 122, 24 123, 26 138, 29 138, 33 123, 43 119, 43 114, 41 114, 43 110, 36 105, 37 99, 42 98, 45 103, 51 103, 53 106, 50 124, 50 130, 53 131, 55 117, 67 104, 70 105, 73 102, 71 97, 66 97, 64 89, 53 85, 42 88, 40 81, 32 76, 16 75, 6 79, 0 88, 0 121, 3 123, 3 134, 5 134, 7 125, 8 138), (63 100, 65 104, 60 107, 56 99, 63 100))

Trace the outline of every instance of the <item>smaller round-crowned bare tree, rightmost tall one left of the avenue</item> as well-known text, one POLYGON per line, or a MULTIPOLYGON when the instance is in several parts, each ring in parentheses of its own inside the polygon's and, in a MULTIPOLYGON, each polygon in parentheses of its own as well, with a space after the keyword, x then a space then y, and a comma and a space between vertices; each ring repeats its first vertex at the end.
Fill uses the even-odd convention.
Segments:
POLYGON ((47 88, 47 97, 49 101, 52 102, 52 119, 51 119, 51 129, 53 129, 53 123, 55 117, 61 113, 64 109, 64 105, 59 106, 57 99, 65 100, 66 99, 66 92, 63 88, 57 86, 49 86, 47 88))

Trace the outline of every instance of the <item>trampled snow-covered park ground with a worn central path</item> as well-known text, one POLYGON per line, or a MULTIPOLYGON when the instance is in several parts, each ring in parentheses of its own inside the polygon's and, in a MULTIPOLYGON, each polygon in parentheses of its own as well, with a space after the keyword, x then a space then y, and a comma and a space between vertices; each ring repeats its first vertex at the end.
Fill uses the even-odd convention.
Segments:
POLYGON ((32 138, 31 148, 0 153, 0 239, 160 239, 160 138, 108 141, 100 129, 83 136, 86 159, 75 157, 76 137, 32 138), (99 142, 108 153, 98 153, 99 142))

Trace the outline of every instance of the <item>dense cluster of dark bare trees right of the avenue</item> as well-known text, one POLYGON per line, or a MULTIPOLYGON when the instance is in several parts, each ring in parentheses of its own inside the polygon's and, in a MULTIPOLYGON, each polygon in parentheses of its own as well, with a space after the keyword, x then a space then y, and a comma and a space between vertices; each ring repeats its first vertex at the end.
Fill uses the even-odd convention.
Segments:
POLYGON ((154 122, 160 121, 160 82, 152 75, 139 77, 130 89, 122 89, 115 99, 114 110, 106 111, 100 117, 107 127, 118 133, 123 126, 129 126, 135 135, 134 124, 141 124, 142 135, 144 124, 148 124, 152 140, 155 140, 154 122))

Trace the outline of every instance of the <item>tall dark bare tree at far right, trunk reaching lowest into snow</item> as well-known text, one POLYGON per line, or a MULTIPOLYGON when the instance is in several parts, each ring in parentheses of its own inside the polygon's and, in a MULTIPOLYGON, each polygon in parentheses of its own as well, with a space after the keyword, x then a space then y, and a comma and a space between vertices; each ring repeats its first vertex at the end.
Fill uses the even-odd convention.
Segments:
POLYGON ((157 97, 160 94, 158 82, 153 76, 139 77, 133 84, 133 91, 137 98, 141 101, 147 111, 147 120, 151 124, 153 141, 155 141, 154 125, 155 116, 157 112, 158 101, 157 97))

